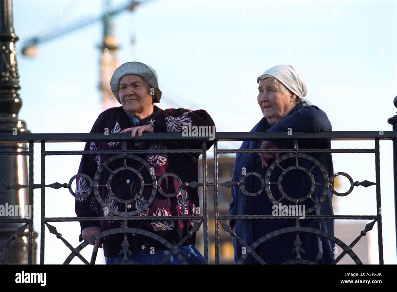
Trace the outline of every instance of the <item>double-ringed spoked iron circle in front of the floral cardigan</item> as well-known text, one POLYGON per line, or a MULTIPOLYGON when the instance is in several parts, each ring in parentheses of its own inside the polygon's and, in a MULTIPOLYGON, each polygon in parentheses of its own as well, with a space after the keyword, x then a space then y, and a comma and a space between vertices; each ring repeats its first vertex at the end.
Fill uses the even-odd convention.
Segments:
POLYGON ((132 215, 136 215, 136 214, 138 214, 138 213, 141 213, 143 210, 145 210, 147 207, 150 206, 150 204, 151 204, 152 201, 154 200, 154 196, 156 195, 156 191, 157 191, 156 175, 154 175, 154 174, 152 174, 152 173, 150 172, 150 165, 149 165, 145 160, 143 160, 143 159, 141 159, 140 157, 137 157, 137 156, 135 156, 135 155, 132 155, 132 154, 120 154, 120 155, 115 155, 115 156, 110 157, 109 159, 107 159, 106 161, 104 161, 104 162, 99 166, 99 168, 96 170, 96 173, 95 173, 95 176, 94 176, 94 194, 95 194, 96 201, 98 201, 98 203, 99 203, 103 208, 108 208, 109 213, 112 213, 112 214, 118 215, 118 216, 132 216, 132 215), (115 169, 115 170, 111 170, 111 169, 108 167, 108 165, 109 165, 111 162, 113 162, 113 161, 115 161, 115 160, 117 160, 117 159, 123 159, 123 160, 124 160, 124 166, 119 167, 119 168, 117 168, 117 169, 115 169), (142 164, 142 167, 141 167, 139 170, 137 170, 137 169, 135 169, 135 168, 132 168, 132 167, 127 166, 127 159, 133 159, 133 160, 135 160, 135 161, 138 161, 139 163, 142 164), (100 176, 101 172, 102 172, 103 170, 105 170, 105 169, 107 169, 108 171, 110 171, 110 176, 109 176, 109 178, 108 178, 108 180, 107 180, 107 182, 106 182, 106 185, 99 185, 99 184, 98 184, 99 176, 100 176), (150 174, 150 177, 151 177, 151 179, 152 179, 151 182, 146 182, 146 183, 145 183, 144 178, 143 178, 143 176, 141 175, 141 171, 142 171, 143 169, 146 169, 146 170, 148 171, 148 174, 150 174), (112 190, 111 190, 111 188, 110 188, 110 183, 111 183, 111 181, 112 181, 112 178, 114 178, 114 176, 115 176, 117 173, 121 172, 121 171, 130 171, 130 172, 133 172, 133 173, 139 178, 139 180, 140 180, 140 182, 141 182, 141 188, 140 188, 139 192, 138 192, 137 194, 135 194, 135 195, 131 194, 131 195, 133 195, 133 197, 132 197, 131 199, 126 199, 126 200, 119 199, 118 197, 116 197, 116 196, 114 195, 114 193, 112 192, 112 190), (120 203, 124 203, 124 205, 125 205, 125 210, 127 210, 127 209, 129 209, 128 205, 130 205, 131 203, 133 203, 133 202, 135 202, 135 201, 137 201, 137 200, 141 200, 141 199, 139 198, 139 196, 142 194, 144 188, 145 188, 145 187, 148 187, 148 186, 152 186, 152 193, 150 194, 150 197, 149 197, 149 199, 148 199, 146 202, 143 201, 143 206, 140 207, 140 208, 138 208, 138 209, 136 209, 136 210, 134 210, 134 211, 125 211, 125 212, 116 211, 116 210, 114 210, 112 207, 110 207, 108 204, 106 204, 106 203, 102 200, 102 198, 100 197, 100 195, 99 195, 99 190, 98 190, 98 187, 106 187, 107 190, 108 190, 108 193, 109 193, 109 195, 110 195, 110 197, 111 197, 111 199, 110 199, 109 202, 111 202, 112 200, 115 200, 115 201, 118 201, 118 202, 120 202, 120 203))

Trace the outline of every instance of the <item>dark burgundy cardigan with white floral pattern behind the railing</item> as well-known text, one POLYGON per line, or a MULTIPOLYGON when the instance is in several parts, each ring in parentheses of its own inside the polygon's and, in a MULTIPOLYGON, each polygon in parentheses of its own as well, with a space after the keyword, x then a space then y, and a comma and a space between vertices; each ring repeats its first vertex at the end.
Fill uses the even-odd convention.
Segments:
MULTIPOLYGON (((184 126, 214 126, 205 110, 168 108, 154 106, 153 114, 140 120, 137 126, 154 120, 154 132, 182 132, 184 126)), ((123 108, 110 108, 96 119, 90 133, 118 133, 134 127, 123 108), (106 129, 107 128, 107 129, 106 129)), ((121 150, 122 142, 87 142, 84 150, 121 150)), ((200 140, 149 141, 135 146, 135 141, 126 143, 127 150, 202 149, 200 140)), ((207 141, 207 149, 212 142, 207 141)), ((127 155, 104 153, 84 154, 78 174, 91 178, 94 188, 83 176, 76 180, 75 212, 78 217, 127 216, 194 216, 199 215, 197 188, 179 186, 181 183, 198 182, 199 153, 129 153, 127 155), (162 177, 164 174, 168 174, 162 177), (154 179, 155 177, 155 179, 154 179), (161 178, 162 177, 162 178, 161 178), (161 181, 159 182, 159 180, 161 181), (160 184, 161 188, 156 187, 160 184), (97 187, 96 187, 97 186, 97 187), (160 190, 159 190, 160 189, 160 190)), ((109 220, 82 221, 81 230, 89 226, 100 226, 103 231, 127 227, 138 228, 156 234, 172 245, 184 238, 197 220, 109 220)), ((155 237, 155 236, 154 236, 155 237)), ((104 255, 113 257, 122 249, 124 233, 104 237, 104 255)), ((127 233, 129 247, 133 254, 142 249, 166 249, 153 237, 127 233)), ((183 245, 195 244, 195 234, 183 245)))

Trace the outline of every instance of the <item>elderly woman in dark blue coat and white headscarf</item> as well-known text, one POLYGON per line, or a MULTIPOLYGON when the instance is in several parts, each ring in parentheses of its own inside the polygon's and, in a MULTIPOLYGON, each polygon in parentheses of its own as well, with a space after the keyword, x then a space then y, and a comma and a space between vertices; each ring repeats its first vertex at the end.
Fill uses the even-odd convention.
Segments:
MULTIPOLYGON (((260 75, 257 82, 258 104, 264 117, 251 132, 314 133, 332 130, 326 113, 303 99, 307 92, 306 83, 301 73, 292 66, 274 66, 260 75)), ((293 141, 290 140, 245 141, 240 149, 293 149, 293 141)), ((298 141, 298 147, 330 149, 331 143, 302 140, 298 141)), ((233 186, 229 215, 290 216, 294 215, 292 210, 303 212, 299 220, 230 220, 230 226, 237 236, 248 247, 257 241, 254 251, 266 264, 332 263, 334 244, 327 238, 327 234, 333 235, 333 220, 304 219, 305 213, 333 215, 332 193, 328 188, 328 178, 333 174, 331 153, 238 153, 233 169, 233 182, 241 182, 241 178, 249 172, 259 174, 263 182, 258 176, 248 175, 242 184, 243 188, 233 186), (264 183, 266 174, 268 178, 264 183), (243 189, 251 194, 246 195, 243 189), (289 211, 285 211, 286 208, 289 211), (303 228, 302 231, 301 228, 298 231, 296 226, 313 229, 303 228), (307 232, 308 230, 320 230, 326 234, 321 233, 324 237, 307 232)), ((235 237, 232 240, 236 263, 259 262, 249 248, 243 247, 235 237)))

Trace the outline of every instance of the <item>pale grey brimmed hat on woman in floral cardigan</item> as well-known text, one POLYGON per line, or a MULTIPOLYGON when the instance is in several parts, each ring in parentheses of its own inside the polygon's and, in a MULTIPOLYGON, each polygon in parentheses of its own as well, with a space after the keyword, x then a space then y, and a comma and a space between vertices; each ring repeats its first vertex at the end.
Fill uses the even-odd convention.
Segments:
POLYGON ((119 68, 114 71, 112 79, 110 79, 110 88, 117 101, 120 102, 119 97, 119 88, 120 88, 120 80, 125 75, 135 74, 143 78, 150 87, 154 88, 154 99, 153 102, 160 102, 161 91, 158 88, 158 77, 156 71, 146 64, 141 62, 127 62, 121 65, 119 68))

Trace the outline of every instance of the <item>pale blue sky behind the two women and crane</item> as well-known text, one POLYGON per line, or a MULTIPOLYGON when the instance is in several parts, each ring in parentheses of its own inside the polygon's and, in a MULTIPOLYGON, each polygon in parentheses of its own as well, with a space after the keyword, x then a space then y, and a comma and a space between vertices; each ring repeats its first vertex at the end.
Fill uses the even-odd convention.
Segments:
MULTIPOLYGON (((35 59, 22 56, 21 47, 33 35, 100 14, 102 2, 14 0, 13 5, 15 34, 20 38, 19 117, 34 133, 89 132, 101 111, 97 89, 101 23, 43 44, 35 59), (48 96, 47 88, 54 84, 76 87, 79 95, 48 96)), ((303 73, 306 98, 327 113, 334 131, 387 131, 391 130, 387 118, 396 111, 392 103, 397 93, 396 12, 396 2, 375 0, 159 0, 123 12, 114 22, 119 63, 140 61, 157 71, 164 94, 159 106, 204 108, 217 131, 249 131, 260 120, 256 77, 277 64, 291 64, 303 73)), ((239 142, 226 145, 238 148, 239 142)), ((333 141, 332 146, 367 148, 374 143, 333 141)), ((68 182, 77 172, 79 159, 67 159, 67 166, 47 174, 48 183, 68 182)), ((381 141, 385 263, 396 263, 391 160, 391 142, 381 141)), ((347 172, 355 181, 375 180, 374 155, 336 154, 333 161, 337 171, 347 172)), ((39 168, 35 173, 39 175, 39 168)), ((336 213, 375 214, 375 187, 360 188, 338 198, 336 213)), ((60 191, 48 193, 56 197, 48 195, 48 203, 59 205, 60 191)), ((67 190, 62 201, 63 208, 48 208, 48 216, 74 216, 67 190)), ((52 235, 47 236, 50 240, 52 235)))

